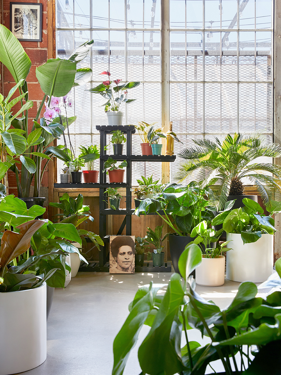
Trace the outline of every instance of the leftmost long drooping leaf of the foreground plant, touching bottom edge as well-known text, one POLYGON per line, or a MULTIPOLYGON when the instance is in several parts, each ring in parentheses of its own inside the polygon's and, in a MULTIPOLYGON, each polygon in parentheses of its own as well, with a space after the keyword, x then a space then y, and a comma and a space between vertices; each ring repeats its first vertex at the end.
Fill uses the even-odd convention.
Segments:
MULTIPOLYGON (((122 375, 131 349, 136 345, 139 332, 153 309, 156 293, 164 285, 151 282, 147 293, 133 306, 113 342, 114 365, 112 375, 122 375)), ((147 288, 145 285, 142 288, 147 288)))

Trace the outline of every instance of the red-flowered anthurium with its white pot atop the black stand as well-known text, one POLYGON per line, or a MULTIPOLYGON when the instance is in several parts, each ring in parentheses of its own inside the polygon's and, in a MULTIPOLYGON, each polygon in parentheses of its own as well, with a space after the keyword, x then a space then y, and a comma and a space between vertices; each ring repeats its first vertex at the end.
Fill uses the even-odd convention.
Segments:
POLYGON ((136 100, 127 99, 127 90, 139 86, 140 82, 128 82, 120 85, 120 82, 122 80, 111 81, 109 78, 111 74, 108 71, 102 72, 100 73, 100 75, 107 75, 108 80, 103 81, 103 83, 99 84, 97 87, 93 87, 93 89, 90 89, 88 91, 90 91, 91 93, 100 94, 105 99, 102 104, 100 104, 100 106, 105 106, 108 125, 122 125, 124 115, 124 113, 121 111, 122 108, 126 103, 131 103, 136 100), (112 82, 114 82, 116 86, 112 86, 112 82))

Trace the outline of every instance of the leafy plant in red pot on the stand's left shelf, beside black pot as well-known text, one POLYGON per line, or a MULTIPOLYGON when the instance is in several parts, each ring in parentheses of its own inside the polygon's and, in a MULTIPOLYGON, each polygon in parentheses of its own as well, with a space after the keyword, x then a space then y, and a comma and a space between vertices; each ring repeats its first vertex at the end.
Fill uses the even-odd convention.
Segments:
POLYGON ((94 170, 94 161, 100 157, 99 147, 94 144, 88 147, 81 146, 79 150, 81 151, 79 159, 82 159, 87 164, 87 170, 83 171, 84 182, 97 183, 99 171, 94 170))

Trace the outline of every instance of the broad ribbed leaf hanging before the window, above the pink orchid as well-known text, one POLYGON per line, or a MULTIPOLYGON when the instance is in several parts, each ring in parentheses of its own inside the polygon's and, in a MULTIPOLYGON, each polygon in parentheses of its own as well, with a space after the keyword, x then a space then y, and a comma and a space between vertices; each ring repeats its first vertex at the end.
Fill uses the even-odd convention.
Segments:
POLYGON ((49 96, 64 96, 72 89, 76 62, 51 58, 36 68, 36 77, 42 91, 49 96))

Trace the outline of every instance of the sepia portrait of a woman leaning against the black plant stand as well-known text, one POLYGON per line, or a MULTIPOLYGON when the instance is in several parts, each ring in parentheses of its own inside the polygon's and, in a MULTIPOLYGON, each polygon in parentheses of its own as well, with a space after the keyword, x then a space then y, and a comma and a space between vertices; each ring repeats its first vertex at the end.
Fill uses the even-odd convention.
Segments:
POLYGON ((110 236, 109 273, 135 273, 135 236, 110 236))

